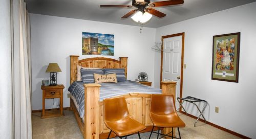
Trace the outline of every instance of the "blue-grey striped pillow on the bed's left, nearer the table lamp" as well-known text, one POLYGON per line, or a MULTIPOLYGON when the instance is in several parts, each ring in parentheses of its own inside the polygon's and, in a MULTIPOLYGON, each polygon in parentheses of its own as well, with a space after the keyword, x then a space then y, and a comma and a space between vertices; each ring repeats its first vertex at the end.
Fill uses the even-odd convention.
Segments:
POLYGON ((83 82, 94 82, 93 74, 104 75, 104 71, 101 68, 98 69, 83 69, 81 68, 81 77, 83 82))

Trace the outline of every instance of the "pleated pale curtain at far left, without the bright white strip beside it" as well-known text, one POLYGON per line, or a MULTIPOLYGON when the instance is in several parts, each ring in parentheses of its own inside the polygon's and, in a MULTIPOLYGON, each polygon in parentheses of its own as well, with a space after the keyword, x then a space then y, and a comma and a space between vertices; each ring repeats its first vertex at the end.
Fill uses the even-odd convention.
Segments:
POLYGON ((12 1, 13 133, 14 138, 32 138, 30 15, 24 0, 12 1))

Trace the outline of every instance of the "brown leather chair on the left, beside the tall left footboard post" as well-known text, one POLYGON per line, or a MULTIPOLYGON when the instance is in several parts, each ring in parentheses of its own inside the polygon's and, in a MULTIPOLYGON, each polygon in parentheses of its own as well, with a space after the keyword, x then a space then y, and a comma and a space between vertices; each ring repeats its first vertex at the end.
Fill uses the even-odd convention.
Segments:
MULTIPOLYGON (((124 97, 104 99, 104 123, 115 132, 120 138, 127 137, 133 133, 145 129, 146 127, 134 120, 129 114, 124 97)), ((108 138, 110 137, 110 134, 108 138)))

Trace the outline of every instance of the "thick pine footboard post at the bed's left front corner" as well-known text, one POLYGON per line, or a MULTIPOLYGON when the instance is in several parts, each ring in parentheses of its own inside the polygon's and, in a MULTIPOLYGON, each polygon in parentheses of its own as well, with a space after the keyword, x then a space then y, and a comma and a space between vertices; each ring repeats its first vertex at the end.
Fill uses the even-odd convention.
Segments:
POLYGON ((100 84, 84 86, 84 138, 99 138, 99 87, 100 84))

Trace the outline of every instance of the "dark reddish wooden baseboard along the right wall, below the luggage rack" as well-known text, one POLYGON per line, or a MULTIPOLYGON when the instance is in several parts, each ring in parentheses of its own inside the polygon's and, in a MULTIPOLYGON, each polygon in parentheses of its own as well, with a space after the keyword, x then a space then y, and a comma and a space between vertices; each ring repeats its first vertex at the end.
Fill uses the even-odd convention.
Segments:
MULTIPOLYGON (((186 114, 186 112, 184 112, 184 111, 181 111, 180 113, 186 114)), ((198 119, 198 117, 195 117, 194 115, 191 115, 191 114, 188 114, 188 113, 187 113, 187 115, 188 115, 189 117, 191 117, 191 118, 198 119)), ((203 119, 199 119, 199 121, 205 122, 203 119)), ((244 136, 244 135, 242 135, 242 134, 239 134, 239 133, 237 133, 237 132, 231 131, 231 130, 229 130, 229 129, 226 129, 226 128, 224 128, 224 127, 218 126, 218 125, 216 125, 216 124, 210 123, 210 122, 208 122, 208 121, 207 121, 207 124, 208 124, 208 125, 211 125, 211 126, 213 126, 213 127, 216 127, 216 128, 218 128, 218 129, 220 129, 220 130, 226 131, 226 132, 228 132, 228 133, 230 133, 230 134, 236 135, 236 136, 238 136, 238 137, 241 137, 241 138, 244 138, 244 139, 251 139, 250 137, 244 136)))

